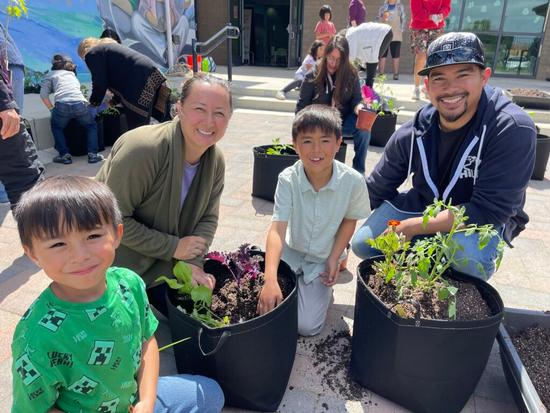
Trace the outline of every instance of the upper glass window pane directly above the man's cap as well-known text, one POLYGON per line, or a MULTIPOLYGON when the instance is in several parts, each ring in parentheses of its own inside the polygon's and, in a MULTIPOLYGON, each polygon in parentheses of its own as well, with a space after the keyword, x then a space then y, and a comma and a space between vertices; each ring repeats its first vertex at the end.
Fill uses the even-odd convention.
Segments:
POLYGON ((466 0, 462 30, 472 32, 499 30, 503 7, 504 0, 466 0))

